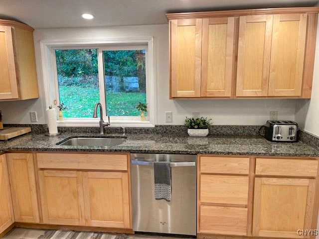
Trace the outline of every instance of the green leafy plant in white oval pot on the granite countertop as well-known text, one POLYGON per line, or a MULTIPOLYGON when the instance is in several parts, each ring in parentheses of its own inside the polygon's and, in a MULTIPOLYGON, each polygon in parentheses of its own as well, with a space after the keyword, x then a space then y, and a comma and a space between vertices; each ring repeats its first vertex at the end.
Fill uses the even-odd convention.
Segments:
POLYGON ((187 127, 187 133, 189 136, 207 136, 209 131, 211 119, 204 117, 201 118, 187 118, 185 119, 184 125, 187 127))

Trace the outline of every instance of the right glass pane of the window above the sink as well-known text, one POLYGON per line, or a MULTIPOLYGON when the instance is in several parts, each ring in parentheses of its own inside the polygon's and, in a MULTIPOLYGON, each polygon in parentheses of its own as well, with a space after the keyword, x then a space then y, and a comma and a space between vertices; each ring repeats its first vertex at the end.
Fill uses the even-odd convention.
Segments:
POLYGON ((145 50, 103 51, 109 116, 139 116, 146 104, 145 50))

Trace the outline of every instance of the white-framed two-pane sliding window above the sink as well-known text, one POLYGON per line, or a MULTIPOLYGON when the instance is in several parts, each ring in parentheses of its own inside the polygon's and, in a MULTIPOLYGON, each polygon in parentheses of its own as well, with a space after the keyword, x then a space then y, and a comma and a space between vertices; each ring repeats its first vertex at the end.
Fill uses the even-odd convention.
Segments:
POLYGON ((154 126, 153 48, 147 43, 42 44, 51 53, 46 73, 55 76, 48 76, 47 101, 67 106, 58 125, 97 124, 93 110, 101 102, 111 126, 154 126), (139 102, 148 104, 147 121, 135 108, 139 102))

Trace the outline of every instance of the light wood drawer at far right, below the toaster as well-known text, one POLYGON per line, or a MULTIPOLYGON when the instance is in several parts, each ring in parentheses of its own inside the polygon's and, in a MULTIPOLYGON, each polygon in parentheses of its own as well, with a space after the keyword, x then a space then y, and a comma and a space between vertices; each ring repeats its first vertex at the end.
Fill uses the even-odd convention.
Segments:
POLYGON ((256 159, 256 175, 317 177, 317 170, 315 159, 256 159))

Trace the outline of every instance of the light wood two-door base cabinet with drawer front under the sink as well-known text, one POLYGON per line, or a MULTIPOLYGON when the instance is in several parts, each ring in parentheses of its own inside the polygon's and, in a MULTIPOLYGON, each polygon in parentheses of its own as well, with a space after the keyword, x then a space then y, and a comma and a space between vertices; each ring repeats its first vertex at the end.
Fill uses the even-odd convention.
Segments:
POLYGON ((127 154, 76 155, 41 153, 37 157, 43 223, 132 228, 127 154), (60 163, 54 163, 53 157, 60 163), (101 171, 90 162, 97 157, 101 171), (121 171, 114 170, 116 158, 122 162, 121 171), (61 165, 77 170, 61 169, 61 165))

